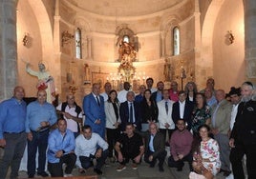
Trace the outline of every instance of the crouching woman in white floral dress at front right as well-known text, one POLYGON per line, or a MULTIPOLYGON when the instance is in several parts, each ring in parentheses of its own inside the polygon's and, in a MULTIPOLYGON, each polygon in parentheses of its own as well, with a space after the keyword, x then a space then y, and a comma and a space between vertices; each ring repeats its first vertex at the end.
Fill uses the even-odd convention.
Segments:
POLYGON ((220 149, 217 141, 209 137, 210 128, 207 125, 199 127, 201 142, 194 151, 193 169, 206 179, 213 177, 221 169, 220 149))

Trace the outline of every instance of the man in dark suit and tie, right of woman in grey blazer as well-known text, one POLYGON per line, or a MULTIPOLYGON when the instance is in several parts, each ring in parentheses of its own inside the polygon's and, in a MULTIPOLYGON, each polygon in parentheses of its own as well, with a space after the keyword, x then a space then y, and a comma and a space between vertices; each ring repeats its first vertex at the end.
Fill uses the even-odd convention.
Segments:
POLYGON ((139 103, 135 101, 135 93, 128 91, 127 101, 120 105, 121 130, 124 131, 126 123, 132 123, 137 130, 141 129, 139 103))

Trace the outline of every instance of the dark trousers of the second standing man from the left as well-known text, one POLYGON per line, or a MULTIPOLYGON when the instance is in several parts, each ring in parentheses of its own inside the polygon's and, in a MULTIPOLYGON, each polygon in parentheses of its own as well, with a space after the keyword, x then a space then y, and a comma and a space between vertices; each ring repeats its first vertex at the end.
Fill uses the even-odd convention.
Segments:
POLYGON ((45 171, 46 149, 48 146, 49 129, 37 132, 32 131, 32 141, 28 140, 28 174, 35 174, 35 155, 38 149, 38 168, 37 172, 45 171))

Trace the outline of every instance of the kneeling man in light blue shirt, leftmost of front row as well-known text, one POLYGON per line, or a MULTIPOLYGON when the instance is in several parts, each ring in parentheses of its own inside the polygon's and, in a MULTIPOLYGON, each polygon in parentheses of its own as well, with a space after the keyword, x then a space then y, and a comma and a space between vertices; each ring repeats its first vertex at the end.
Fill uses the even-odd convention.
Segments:
POLYGON ((67 165, 64 176, 72 176, 75 167, 75 137, 73 131, 67 129, 65 119, 58 119, 57 129, 48 138, 48 169, 52 177, 63 176, 62 164, 67 165))

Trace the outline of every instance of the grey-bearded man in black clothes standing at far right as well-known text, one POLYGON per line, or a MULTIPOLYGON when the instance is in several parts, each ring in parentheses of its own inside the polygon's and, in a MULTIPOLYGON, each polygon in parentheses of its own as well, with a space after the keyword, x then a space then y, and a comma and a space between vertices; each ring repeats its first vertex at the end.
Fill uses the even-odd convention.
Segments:
POLYGON ((230 161, 234 179, 245 178, 242 159, 246 156, 248 179, 256 178, 256 101, 254 87, 245 82, 241 88, 242 102, 238 106, 236 122, 231 131, 230 161))

